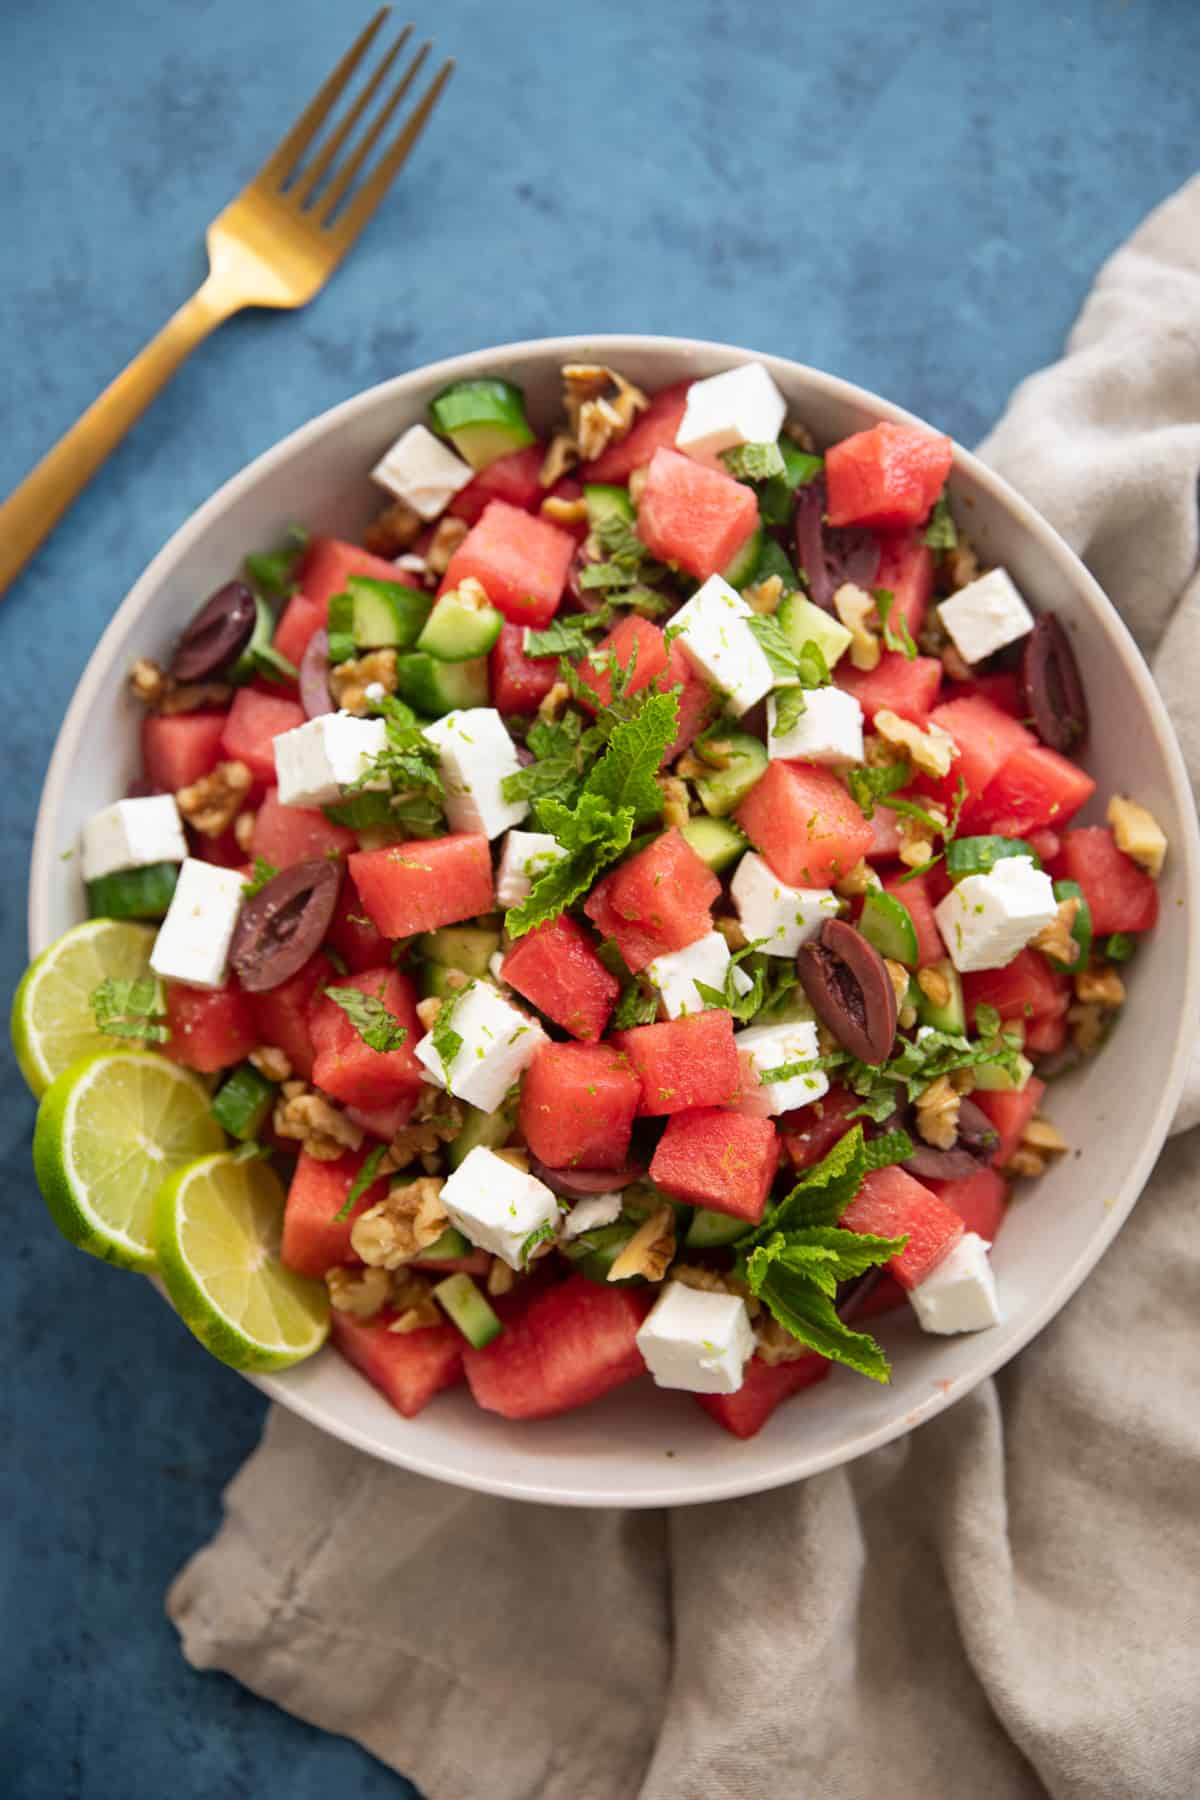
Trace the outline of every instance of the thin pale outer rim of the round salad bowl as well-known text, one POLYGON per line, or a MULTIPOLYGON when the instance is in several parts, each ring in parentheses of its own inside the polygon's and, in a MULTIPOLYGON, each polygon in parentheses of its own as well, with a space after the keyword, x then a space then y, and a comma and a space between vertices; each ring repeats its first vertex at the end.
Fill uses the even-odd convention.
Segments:
MULTIPOLYGON (((865 387, 858 387, 856 383, 828 374, 826 371, 813 369, 808 364, 793 362, 788 356, 775 356, 768 351, 754 351, 745 346, 725 344, 714 338, 671 337, 666 333, 569 333, 561 337, 522 338, 509 344, 495 344, 408 369, 385 382, 376 382, 372 387, 362 389, 349 400, 326 409, 313 419, 308 419, 304 425, 288 432, 286 437, 281 437, 275 445, 230 475, 228 481, 225 481, 171 533, 167 542, 133 583, 92 650, 67 713, 63 715, 38 805, 31 848, 27 905, 31 956, 36 956, 50 941, 47 920, 50 887, 58 871, 58 859, 50 853, 52 821, 59 810, 65 787, 70 779, 70 770, 79 754, 81 738, 90 722, 94 702, 108 675, 119 641, 126 635, 126 628, 148 608, 158 590, 162 576, 184 554, 187 554, 193 542, 200 538, 230 504, 252 491, 264 475, 286 463, 291 455, 304 450, 308 445, 317 443, 326 434, 340 430, 347 419, 353 419, 358 412, 371 409, 385 396, 394 398, 399 409, 414 389, 425 389, 434 382, 450 382, 486 373, 495 367, 495 364, 504 364, 506 360, 518 356, 536 355, 554 358, 558 362, 581 360, 585 356, 592 360, 619 360, 622 355, 653 355, 657 349, 694 355, 698 358, 723 358, 729 360, 730 365, 741 362, 763 362, 768 369, 774 367, 775 371, 781 371, 784 376, 819 391, 831 401, 858 407, 860 410, 873 412, 880 419, 921 425, 927 430, 934 428, 927 419, 921 419, 918 414, 909 412, 907 409, 871 392, 865 387)), ((313 1404, 306 1393, 291 1390, 288 1372, 279 1375, 248 1375, 248 1379, 270 1399, 281 1402, 306 1422, 327 1431, 331 1436, 340 1438, 342 1442, 351 1444, 381 1462, 389 1462, 396 1467, 408 1469, 416 1474, 446 1481, 455 1487, 475 1489, 506 1499, 525 1499, 543 1505, 567 1507, 619 1505, 639 1508, 736 1499, 745 1494, 784 1487, 790 1481, 804 1480, 811 1474, 822 1474, 828 1469, 840 1467, 842 1463, 867 1454, 867 1451, 880 1449, 882 1445, 907 1435, 916 1426, 925 1424, 946 1406, 963 1399, 963 1395, 1016 1355, 1016 1352, 1022 1350, 1054 1318, 1054 1314, 1061 1310, 1067 1300, 1070 1300, 1076 1289, 1083 1283, 1087 1274, 1090 1274, 1096 1267, 1133 1210, 1153 1165, 1159 1159, 1159 1152, 1166 1141, 1187 1075, 1191 1053, 1187 1021, 1200 1015, 1200 931, 1195 902, 1195 895, 1200 887, 1200 830, 1196 826, 1195 799, 1175 729, 1168 718, 1150 670, 1128 626, 1121 619, 1121 614, 1112 605, 1096 578, 1029 500, 1025 500, 1002 475, 997 475, 986 463, 957 441, 954 441, 954 472, 970 477, 973 484, 990 493, 995 502, 1013 515, 1024 533, 1036 542, 1040 554, 1056 567, 1056 572, 1067 580, 1070 587, 1088 603, 1090 610, 1103 619, 1105 628, 1121 655, 1124 673, 1139 691, 1153 724, 1168 785, 1173 792, 1180 819, 1184 821, 1182 841, 1171 844, 1171 855, 1182 864, 1182 889, 1187 907, 1186 968, 1182 970, 1180 983, 1182 1004, 1178 1012, 1178 1030, 1171 1051, 1171 1064, 1168 1078, 1162 1084, 1153 1118, 1142 1134, 1141 1148, 1133 1159, 1132 1170, 1121 1184, 1121 1192, 1115 1195, 1114 1204, 1106 1208, 1101 1224, 1088 1237, 1088 1242, 1083 1246, 1079 1255, 1058 1273, 1058 1278, 1043 1301, 1031 1307, 1027 1318, 1022 1319, 1015 1334, 1007 1336, 1002 1345, 988 1350, 986 1334, 981 1336, 979 1341, 982 1354, 977 1364, 972 1368, 970 1375, 961 1375, 952 1384, 945 1384, 952 1391, 934 1388, 918 1406, 910 1408, 903 1415, 882 1420, 880 1426, 873 1429, 858 1431, 851 1442, 835 1442, 817 1453, 804 1451, 801 1442, 792 1456, 781 1458, 781 1465, 777 1469, 770 1472, 757 1471, 750 1480, 747 1480, 747 1476, 739 1476, 734 1465, 732 1472, 727 1469, 709 1480, 696 1480, 694 1476, 687 1481, 662 1480, 657 1487, 642 1489, 633 1498, 626 1496, 617 1487, 588 1487, 579 1492, 563 1492, 561 1487, 545 1487, 536 1480, 493 1476, 486 1467, 448 1471, 435 1454, 423 1454, 419 1451, 416 1454, 405 1454, 403 1447, 381 1444, 367 1431, 336 1418, 331 1420, 329 1413, 313 1404)))

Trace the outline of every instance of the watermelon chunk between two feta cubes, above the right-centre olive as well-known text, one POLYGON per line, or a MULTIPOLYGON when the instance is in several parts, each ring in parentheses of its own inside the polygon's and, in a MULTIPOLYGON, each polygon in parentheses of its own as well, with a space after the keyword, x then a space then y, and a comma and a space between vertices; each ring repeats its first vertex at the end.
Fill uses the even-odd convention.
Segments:
POLYGON ((838 778, 810 763, 770 763, 734 817, 790 887, 833 886, 874 839, 838 778))

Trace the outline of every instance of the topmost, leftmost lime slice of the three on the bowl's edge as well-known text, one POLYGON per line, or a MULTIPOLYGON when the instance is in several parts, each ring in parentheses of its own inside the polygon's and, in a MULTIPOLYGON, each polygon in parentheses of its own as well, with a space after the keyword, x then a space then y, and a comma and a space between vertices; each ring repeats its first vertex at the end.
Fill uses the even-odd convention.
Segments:
POLYGON ((13 997, 11 1031, 34 1100, 72 1062, 112 1049, 112 1037, 95 1030, 92 990, 110 976, 119 981, 144 976, 153 947, 153 925, 90 918, 65 931, 29 965, 13 997))

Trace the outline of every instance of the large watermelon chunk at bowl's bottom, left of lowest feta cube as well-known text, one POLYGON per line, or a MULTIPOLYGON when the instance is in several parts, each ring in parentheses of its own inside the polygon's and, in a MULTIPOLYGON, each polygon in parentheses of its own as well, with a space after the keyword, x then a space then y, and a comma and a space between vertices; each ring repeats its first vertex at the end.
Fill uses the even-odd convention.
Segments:
POLYGON ((637 1332, 648 1300, 572 1274, 516 1312, 486 1350, 466 1348, 471 1393, 502 1418, 549 1418, 646 1372, 637 1332))

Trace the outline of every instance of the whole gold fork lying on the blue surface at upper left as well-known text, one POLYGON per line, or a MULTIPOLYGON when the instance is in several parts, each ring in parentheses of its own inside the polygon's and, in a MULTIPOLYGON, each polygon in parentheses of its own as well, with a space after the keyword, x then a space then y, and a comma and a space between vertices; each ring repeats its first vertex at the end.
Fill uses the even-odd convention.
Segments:
POLYGON ((369 176, 354 187, 367 157, 416 81, 425 43, 378 108, 358 144, 338 162, 354 126, 412 36, 405 25, 345 119, 304 166, 304 153, 329 119, 351 76, 389 16, 381 7, 304 108, 282 144, 252 182, 212 220, 207 232, 209 277, 167 319, 158 337, 110 382, 99 400, 38 463, 0 506, 0 594, 88 484, 110 450, 142 416, 160 387, 210 331, 243 306, 304 306, 326 284, 358 238, 408 151, 425 130, 453 70, 443 63, 419 104, 369 176))

